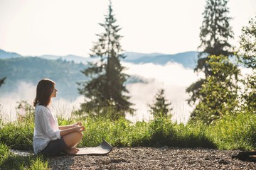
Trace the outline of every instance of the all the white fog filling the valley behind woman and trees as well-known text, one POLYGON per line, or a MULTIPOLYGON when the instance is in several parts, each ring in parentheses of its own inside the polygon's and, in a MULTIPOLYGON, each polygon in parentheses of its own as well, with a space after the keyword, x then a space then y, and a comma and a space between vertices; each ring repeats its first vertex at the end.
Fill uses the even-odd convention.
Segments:
MULTIPOLYGON (((186 88, 203 74, 193 72, 193 69, 186 69, 181 64, 169 62, 166 65, 159 64, 132 64, 122 62, 122 65, 127 69, 126 74, 141 77, 145 83, 127 84, 127 89, 130 96, 130 102, 134 103, 133 108, 137 109, 134 115, 127 114, 127 119, 132 122, 148 121, 153 118, 149 114, 149 104, 154 102, 154 96, 160 89, 165 90, 166 99, 171 102, 174 110, 171 112, 172 120, 178 123, 187 123, 193 106, 188 106, 186 88)), ((242 74, 250 74, 251 69, 241 69, 242 74)), ((38 80, 39 81, 39 80, 38 80)), ((54 80, 53 80, 54 81, 54 80)), ((58 84, 56 84, 58 89, 58 84)), ((33 103, 33 98, 36 96, 36 84, 19 82, 18 89, 14 89, 10 94, 0 94, 0 118, 2 120, 16 120, 16 107, 18 101, 28 101, 33 103)), ((69 118, 73 110, 80 107, 80 103, 84 101, 83 96, 78 98, 53 98, 52 107, 56 115, 69 118)))

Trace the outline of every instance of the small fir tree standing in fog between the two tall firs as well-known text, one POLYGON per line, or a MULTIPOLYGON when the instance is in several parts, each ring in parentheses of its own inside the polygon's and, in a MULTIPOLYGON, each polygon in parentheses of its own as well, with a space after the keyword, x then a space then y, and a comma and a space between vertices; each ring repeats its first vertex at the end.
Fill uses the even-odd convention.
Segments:
POLYGON ((156 94, 154 100, 154 103, 149 105, 149 112, 154 115, 154 118, 168 118, 168 113, 170 113, 173 108, 170 108, 171 103, 169 103, 164 96, 164 89, 161 89, 159 93, 156 94))

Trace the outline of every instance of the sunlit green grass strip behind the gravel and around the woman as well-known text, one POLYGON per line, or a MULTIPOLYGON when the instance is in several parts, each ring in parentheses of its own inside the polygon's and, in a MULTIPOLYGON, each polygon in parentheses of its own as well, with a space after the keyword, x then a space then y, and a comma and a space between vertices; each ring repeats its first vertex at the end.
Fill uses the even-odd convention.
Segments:
MULTIPOLYGON (((58 118, 59 125, 78 121, 73 115, 69 120, 58 118)), ((166 118, 157 118, 149 123, 132 124, 124 118, 79 118, 85 125, 82 142, 78 147, 97 146, 102 139, 113 147, 205 147, 216 149, 256 148, 256 115, 239 113, 225 115, 212 125, 172 123, 166 118)), ((48 159, 21 157, 11 154, 10 149, 25 149, 33 152, 33 118, 28 115, 23 122, 0 123, 0 169, 48 169, 48 159)))

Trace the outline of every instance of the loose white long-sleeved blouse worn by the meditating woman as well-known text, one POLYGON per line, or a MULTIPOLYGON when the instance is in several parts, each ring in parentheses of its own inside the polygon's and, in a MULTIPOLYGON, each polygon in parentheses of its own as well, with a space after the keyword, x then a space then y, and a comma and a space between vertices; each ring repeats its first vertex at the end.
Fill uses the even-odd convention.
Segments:
POLYGON ((33 150, 38 154, 51 140, 60 139, 58 120, 50 107, 36 105, 35 129, 33 134, 33 150))

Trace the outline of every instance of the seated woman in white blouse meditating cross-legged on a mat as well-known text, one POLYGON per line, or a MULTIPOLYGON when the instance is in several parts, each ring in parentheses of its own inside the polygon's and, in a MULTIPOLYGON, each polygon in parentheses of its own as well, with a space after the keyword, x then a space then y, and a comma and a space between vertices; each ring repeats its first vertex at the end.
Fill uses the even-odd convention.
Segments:
POLYGON ((36 87, 36 107, 33 149, 35 154, 52 156, 59 152, 75 154, 79 151, 76 146, 82 140, 82 123, 58 126, 58 120, 50 108, 51 98, 56 97, 55 82, 41 79, 36 87))

